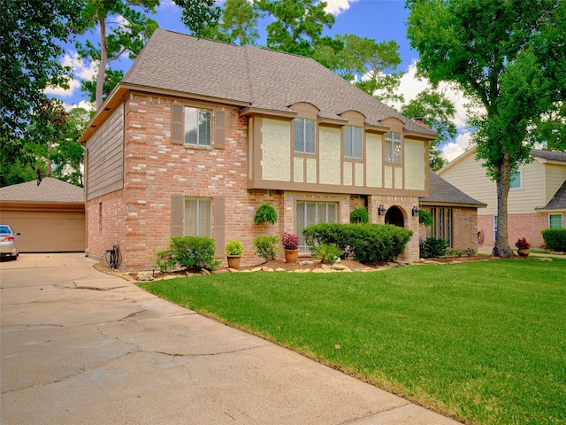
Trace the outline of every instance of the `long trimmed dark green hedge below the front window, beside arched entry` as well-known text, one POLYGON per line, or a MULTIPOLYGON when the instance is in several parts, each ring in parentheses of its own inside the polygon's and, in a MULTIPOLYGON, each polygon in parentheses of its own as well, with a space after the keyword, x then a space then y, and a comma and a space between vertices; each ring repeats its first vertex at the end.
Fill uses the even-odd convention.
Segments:
POLYGON ((310 247, 334 243, 342 258, 352 255, 363 264, 394 261, 405 251, 405 245, 413 235, 408 228, 383 224, 319 223, 302 230, 310 247))

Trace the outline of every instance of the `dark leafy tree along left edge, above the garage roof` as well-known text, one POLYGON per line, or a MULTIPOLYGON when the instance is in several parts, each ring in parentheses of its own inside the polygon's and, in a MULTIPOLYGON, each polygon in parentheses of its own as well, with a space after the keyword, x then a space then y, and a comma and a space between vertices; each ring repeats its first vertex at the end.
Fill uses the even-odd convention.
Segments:
MULTIPOLYGON (((36 147, 25 137, 34 115, 44 110, 48 86, 65 86, 62 42, 75 32, 81 0, 4 0, 0 12, 0 150, 2 183, 18 182, 19 168, 33 170, 36 147), (14 167, 12 167, 15 166, 14 167)), ((27 170, 27 171, 26 171, 27 170)))

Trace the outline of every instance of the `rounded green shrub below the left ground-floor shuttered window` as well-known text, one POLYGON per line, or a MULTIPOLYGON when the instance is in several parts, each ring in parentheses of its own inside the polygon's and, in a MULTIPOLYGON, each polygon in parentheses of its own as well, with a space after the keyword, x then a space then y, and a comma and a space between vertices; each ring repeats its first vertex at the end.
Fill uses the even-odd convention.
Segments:
POLYGON ((214 240, 207 236, 174 236, 164 251, 156 252, 156 266, 168 270, 179 265, 182 269, 214 270, 222 261, 214 259, 214 240))

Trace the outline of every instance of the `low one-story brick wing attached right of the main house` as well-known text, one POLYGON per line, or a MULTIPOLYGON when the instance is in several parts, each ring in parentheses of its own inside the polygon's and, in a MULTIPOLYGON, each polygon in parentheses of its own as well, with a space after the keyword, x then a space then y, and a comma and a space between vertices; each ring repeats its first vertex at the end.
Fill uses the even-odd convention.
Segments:
POLYGON ((420 208, 431 213, 431 228, 421 226, 420 237, 441 237, 455 250, 478 251, 478 208, 486 204, 469 197, 462 190, 429 171, 429 196, 420 197, 420 208))

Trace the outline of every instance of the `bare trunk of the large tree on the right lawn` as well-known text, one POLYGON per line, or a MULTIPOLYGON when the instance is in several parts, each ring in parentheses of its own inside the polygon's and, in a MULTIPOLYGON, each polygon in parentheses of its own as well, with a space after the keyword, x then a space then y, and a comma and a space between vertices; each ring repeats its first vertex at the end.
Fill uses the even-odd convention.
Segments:
POLYGON ((496 257, 514 257, 515 254, 509 247, 509 237, 507 233, 507 204, 509 197, 509 174, 511 169, 511 158, 509 154, 503 155, 499 170, 499 178, 495 182, 497 186, 497 234, 495 236, 495 246, 492 255, 496 257))

